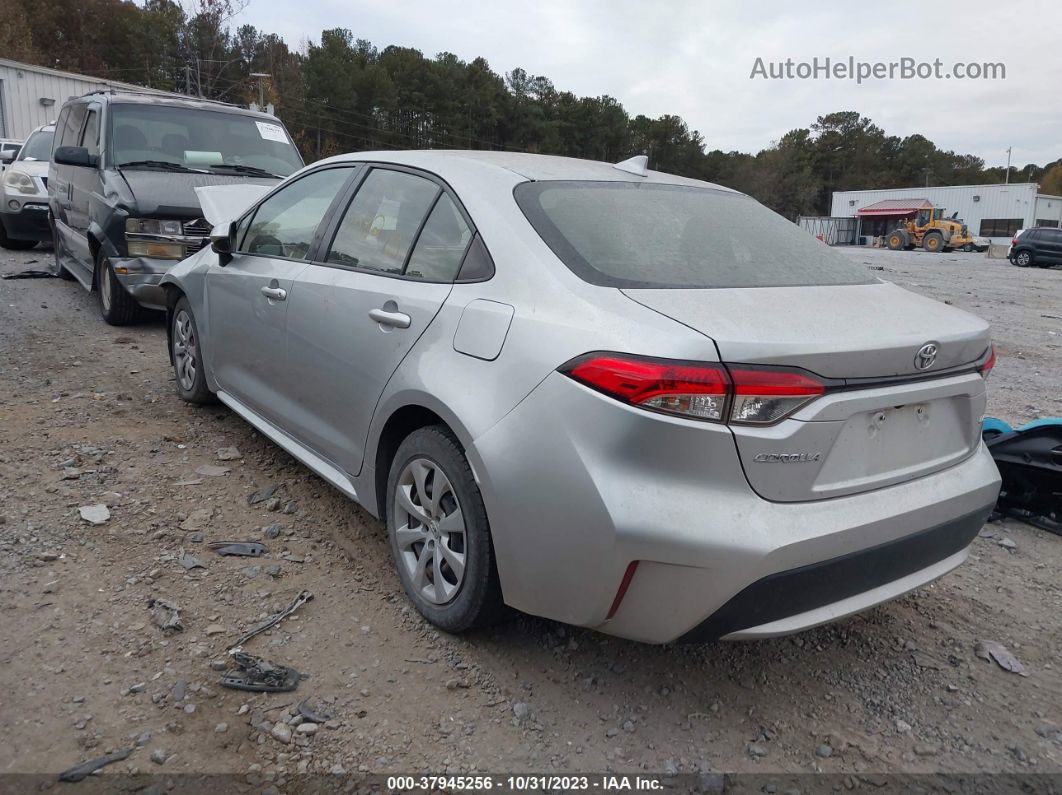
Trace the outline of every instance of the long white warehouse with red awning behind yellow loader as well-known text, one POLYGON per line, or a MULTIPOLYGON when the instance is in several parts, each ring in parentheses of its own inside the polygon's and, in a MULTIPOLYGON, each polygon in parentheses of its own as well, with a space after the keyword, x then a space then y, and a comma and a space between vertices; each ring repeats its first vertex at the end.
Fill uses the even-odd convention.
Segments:
POLYGON ((958 212, 972 234, 1004 243, 1018 229, 1062 225, 1062 196, 1038 191, 1035 183, 837 191, 830 215, 857 219, 856 235, 872 238, 888 234, 928 202, 944 208, 945 218, 958 212))

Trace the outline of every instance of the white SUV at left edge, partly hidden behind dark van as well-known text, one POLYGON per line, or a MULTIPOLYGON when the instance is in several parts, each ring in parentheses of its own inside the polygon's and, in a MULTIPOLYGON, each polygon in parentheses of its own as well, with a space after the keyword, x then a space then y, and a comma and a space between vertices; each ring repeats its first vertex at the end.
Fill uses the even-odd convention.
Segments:
POLYGON ((0 247, 33 248, 50 240, 48 226, 48 160, 54 124, 37 127, 17 150, 4 171, 0 205, 0 247))

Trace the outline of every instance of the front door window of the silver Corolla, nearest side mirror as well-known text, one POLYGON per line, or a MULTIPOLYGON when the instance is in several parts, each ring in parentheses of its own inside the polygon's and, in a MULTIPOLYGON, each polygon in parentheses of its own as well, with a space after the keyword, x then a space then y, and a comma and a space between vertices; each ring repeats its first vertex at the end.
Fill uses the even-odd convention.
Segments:
POLYGON ((258 206, 239 250, 305 259, 328 207, 349 175, 350 169, 324 169, 278 190, 258 206))

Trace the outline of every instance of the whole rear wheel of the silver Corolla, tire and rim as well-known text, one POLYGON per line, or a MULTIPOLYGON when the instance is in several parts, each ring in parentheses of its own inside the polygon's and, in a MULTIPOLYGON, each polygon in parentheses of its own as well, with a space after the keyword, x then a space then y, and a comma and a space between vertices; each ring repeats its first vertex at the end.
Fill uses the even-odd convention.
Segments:
POLYGON ((443 426, 413 431, 388 476, 388 535, 417 611, 460 633, 503 615, 491 528, 468 461, 443 426))

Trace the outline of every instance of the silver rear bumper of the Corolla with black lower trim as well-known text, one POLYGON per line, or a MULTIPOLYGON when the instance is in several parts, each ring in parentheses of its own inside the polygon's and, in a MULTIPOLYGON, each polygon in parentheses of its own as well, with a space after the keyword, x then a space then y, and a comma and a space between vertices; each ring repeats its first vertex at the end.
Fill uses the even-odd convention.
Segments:
POLYGON ((798 632, 898 597, 964 559, 999 490, 978 445, 906 483, 772 502, 725 426, 631 409, 560 374, 468 454, 506 601, 653 643, 798 632))

